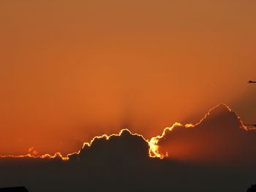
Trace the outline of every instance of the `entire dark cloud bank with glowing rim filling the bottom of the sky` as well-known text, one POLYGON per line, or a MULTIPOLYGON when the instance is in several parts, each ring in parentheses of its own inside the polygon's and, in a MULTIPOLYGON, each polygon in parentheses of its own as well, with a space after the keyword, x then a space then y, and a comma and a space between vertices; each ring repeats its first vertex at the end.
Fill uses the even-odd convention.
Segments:
POLYGON ((95 137, 67 161, 61 155, 0 158, 0 187, 23 185, 31 192, 238 192, 255 183, 255 130, 244 127, 223 104, 200 123, 166 128, 154 141, 156 150, 168 157, 151 158, 150 142, 124 129, 95 137))

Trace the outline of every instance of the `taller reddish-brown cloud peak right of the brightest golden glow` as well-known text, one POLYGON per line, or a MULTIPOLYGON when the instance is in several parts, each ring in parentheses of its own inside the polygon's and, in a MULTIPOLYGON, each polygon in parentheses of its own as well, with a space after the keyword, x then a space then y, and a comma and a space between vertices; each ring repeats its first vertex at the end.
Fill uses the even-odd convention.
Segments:
POLYGON ((246 130, 235 112, 220 104, 195 126, 175 126, 159 139, 169 158, 206 164, 255 165, 255 129, 246 130))

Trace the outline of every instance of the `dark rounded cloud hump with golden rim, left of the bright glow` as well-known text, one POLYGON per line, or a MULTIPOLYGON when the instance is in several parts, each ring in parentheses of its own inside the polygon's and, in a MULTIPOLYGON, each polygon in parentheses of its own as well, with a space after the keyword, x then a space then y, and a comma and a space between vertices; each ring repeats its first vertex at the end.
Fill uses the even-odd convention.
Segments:
POLYGON ((71 160, 76 161, 105 161, 113 158, 129 161, 130 159, 148 158, 148 142, 139 135, 131 134, 127 129, 121 131, 120 135, 107 137, 95 137, 91 145, 84 145, 79 154, 69 155, 71 160))

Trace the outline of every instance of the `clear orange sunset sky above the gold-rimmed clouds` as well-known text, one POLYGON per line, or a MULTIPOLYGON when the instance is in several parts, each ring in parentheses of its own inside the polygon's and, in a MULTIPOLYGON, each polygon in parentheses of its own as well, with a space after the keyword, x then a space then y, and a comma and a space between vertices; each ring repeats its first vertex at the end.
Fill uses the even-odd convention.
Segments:
POLYGON ((256 123, 256 1, 0 1, 0 154, 146 138, 225 103, 256 123))

